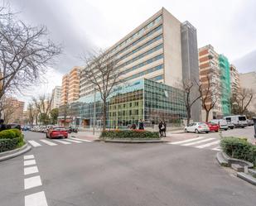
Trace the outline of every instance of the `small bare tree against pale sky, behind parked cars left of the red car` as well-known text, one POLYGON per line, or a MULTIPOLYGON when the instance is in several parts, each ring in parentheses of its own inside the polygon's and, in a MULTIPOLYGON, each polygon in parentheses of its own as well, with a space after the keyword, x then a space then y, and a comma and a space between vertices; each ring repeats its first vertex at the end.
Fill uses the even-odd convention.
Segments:
POLYGON ((52 95, 46 96, 46 94, 40 95, 38 98, 32 98, 36 111, 39 114, 40 122, 44 125, 49 123, 51 112, 52 95))

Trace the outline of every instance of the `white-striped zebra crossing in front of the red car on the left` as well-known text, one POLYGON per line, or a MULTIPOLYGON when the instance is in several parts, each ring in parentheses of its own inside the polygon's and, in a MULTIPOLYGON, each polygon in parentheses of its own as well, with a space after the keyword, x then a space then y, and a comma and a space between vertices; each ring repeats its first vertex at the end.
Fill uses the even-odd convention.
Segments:
POLYGON ((72 143, 77 143, 80 144, 82 142, 91 142, 89 140, 83 140, 80 138, 75 138, 75 137, 69 137, 66 139, 51 139, 51 140, 46 140, 46 139, 40 139, 38 141, 35 140, 28 140, 28 143, 33 146, 33 147, 40 147, 40 146, 58 146, 58 145, 70 145, 72 143))

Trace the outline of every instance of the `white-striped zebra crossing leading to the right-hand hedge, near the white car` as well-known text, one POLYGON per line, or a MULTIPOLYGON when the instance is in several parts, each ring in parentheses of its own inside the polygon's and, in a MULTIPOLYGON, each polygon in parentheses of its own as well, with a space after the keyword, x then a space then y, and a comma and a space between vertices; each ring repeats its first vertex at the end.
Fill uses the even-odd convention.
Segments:
POLYGON ((198 149, 220 151, 220 140, 213 137, 196 137, 183 141, 167 142, 170 145, 192 146, 198 149))

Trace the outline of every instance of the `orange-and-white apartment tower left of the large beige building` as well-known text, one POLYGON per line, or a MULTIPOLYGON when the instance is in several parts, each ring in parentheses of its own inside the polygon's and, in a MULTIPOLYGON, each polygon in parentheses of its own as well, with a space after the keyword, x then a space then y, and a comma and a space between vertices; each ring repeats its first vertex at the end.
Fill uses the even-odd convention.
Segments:
POLYGON ((72 103, 80 97, 80 72, 81 68, 75 66, 62 77, 61 105, 72 103))

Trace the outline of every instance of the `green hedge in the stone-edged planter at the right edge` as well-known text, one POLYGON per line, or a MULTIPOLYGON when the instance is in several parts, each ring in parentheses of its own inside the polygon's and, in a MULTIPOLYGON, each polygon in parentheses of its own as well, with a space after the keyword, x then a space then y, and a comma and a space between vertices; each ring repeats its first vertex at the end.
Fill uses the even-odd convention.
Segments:
POLYGON ((225 137, 220 141, 222 151, 233 158, 247 160, 256 166, 256 146, 247 140, 236 137, 225 137))

